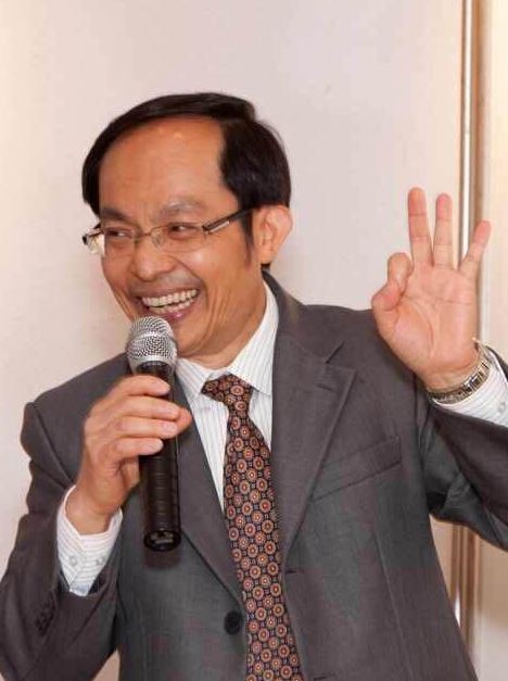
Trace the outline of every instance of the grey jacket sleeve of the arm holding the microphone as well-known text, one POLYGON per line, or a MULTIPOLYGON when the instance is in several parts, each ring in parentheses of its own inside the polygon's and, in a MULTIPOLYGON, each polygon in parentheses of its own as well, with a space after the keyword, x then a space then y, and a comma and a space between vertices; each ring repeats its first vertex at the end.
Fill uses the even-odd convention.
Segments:
POLYGON ((27 514, 0 583, 0 671, 7 681, 93 678, 114 650, 117 540, 91 593, 72 594, 60 573, 56 513, 73 483, 35 404, 22 443, 30 457, 27 514))

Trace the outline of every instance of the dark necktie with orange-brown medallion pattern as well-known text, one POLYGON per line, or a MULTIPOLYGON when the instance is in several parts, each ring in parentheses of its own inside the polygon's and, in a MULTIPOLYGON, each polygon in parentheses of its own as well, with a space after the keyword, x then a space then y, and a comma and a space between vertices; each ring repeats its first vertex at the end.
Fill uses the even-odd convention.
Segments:
POLYGON ((249 417, 252 386, 228 374, 203 393, 229 412, 224 513, 246 611, 246 681, 303 681, 280 578, 270 451, 249 417))

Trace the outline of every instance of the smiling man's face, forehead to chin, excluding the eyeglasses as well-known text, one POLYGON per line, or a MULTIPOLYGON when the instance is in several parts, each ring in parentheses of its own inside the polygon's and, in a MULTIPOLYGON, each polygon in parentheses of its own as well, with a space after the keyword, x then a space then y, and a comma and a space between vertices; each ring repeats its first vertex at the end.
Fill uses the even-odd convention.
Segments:
MULTIPOLYGON (((145 232, 174 220, 202 224, 233 213, 239 205, 223 181, 221 147, 221 130, 207 118, 166 118, 120 137, 100 169, 101 222, 145 232)), ((267 211, 254 213, 252 244, 236 222, 190 253, 167 253, 144 238, 131 256, 104 258, 104 275, 124 312, 131 319, 164 317, 180 356, 211 367, 228 364, 263 316, 259 264, 272 255, 263 236, 267 211)))

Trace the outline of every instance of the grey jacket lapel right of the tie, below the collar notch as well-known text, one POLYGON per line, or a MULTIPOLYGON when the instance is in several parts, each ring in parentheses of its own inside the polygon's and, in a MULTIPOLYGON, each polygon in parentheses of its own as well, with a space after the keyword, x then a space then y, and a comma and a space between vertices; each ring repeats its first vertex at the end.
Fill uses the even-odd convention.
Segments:
MULTIPOLYGON (((335 341, 335 346, 338 345, 335 341)), ((282 562, 302 521, 355 371, 280 333, 274 357, 271 467, 282 562)))

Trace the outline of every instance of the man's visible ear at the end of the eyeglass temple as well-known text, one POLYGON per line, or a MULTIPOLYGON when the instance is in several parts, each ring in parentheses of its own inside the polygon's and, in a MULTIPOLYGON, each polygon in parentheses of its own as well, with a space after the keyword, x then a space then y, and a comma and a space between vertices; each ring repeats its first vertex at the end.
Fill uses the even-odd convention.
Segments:
POLYGON ((277 255, 293 226, 285 205, 265 205, 252 216, 252 239, 261 265, 268 265, 277 255))

